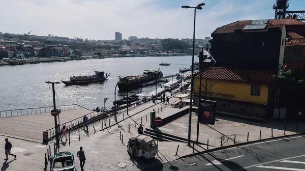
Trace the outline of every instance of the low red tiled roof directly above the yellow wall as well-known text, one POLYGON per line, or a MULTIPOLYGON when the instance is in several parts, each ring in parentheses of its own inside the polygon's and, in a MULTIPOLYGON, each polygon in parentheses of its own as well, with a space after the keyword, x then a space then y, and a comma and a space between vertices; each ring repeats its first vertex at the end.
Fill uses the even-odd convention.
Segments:
POLYGON ((199 78, 200 74, 202 78, 208 79, 268 83, 272 78, 273 71, 212 67, 195 74, 194 77, 199 78))

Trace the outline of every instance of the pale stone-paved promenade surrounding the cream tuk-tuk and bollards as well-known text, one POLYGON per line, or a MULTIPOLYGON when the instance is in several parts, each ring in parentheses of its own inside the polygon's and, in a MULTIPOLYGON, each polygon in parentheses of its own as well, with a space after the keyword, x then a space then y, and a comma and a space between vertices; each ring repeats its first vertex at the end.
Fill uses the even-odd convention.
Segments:
MULTIPOLYGON (((178 100, 176 98, 171 98, 170 103, 178 100)), ((177 142, 166 142, 159 141, 159 153, 156 159, 143 161, 139 158, 131 157, 127 153, 127 141, 133 135, 137 135, 137 127, 141 123, 144 129, 149 127, 149 113, 153 109, 156 110, 156 116, 167 115, 168 113, 177 110, 177 108, 172 108, 169 105, 164 105, 159 103, 147 102, 141 106, 133 108, 129 111, 129 115, 127 113, 123 113, 118 115, 117 122, 112 118, 106 122, 106 125, 103 121, 101 123, 96 123, 94 125, 89 126, 89 132, 87 134, 86 130, 80 130, 70 133, 70 146, 69 140, 66 141, 64 138, 61 143, 59 149, 56 148, 56 151, 70 151, 76 155, 79 147, 82 146, 86 155, 86 162, 84 169, 85 170, 145 170, 151 166, 155 166, 162 163, 167 163, 169 161, 173 161, 181 156, 192 154, 193 149, 188 147, 185 143, 177 143, 177 142), (161 111, 162 107, 162 111, 161 111), (159 113, 158 113, 159 109, 159 113), (147 116, 147 121, 146 121, 147 116), (137 126, 136 124, 137 123, 137 126), (109 125, 111 127, 109 127, 109 125), (95 132, 95 130, 96 132, 95 132), (103 129, 104 128, 104 129, 103 129), (130 129, 129 129, 130 128, 130 129), (123 135, 123 141, 120 140, 120 133, 123 135), (80 139, 79 139, 80 137, 80 139), (177 146, 179 145, 178 154, 176 154, 177 146), (123 162, 127 164, 126 168, 119 168, 118 163, 123 162)), ((62 113, 63 114, 63 113, 62 113)), ((48 114, 50 115, 50 114, 48 114)), ((51 116, 50 116, 51 117, 51 116)), ((18 119, 18 117, 15 117, 18 119)), ((9 119, 9 118, 8 118, 9 119)), ((34 119, 34 118, 33 118, 34 119)), ((74 118, 73 118, 74 119, 74 118)), ((259 130, 262 130, 262 138, 268 136, 269 128, 264 128, 266 125, 257 125, 256 123, 247 123, 243 120, 233 120, 230 118, 217 118, 217 123, 214 126, 200 126, 200 141, 202 143, 206 143, 207 139, 210 139, 210 145, 219 147, 220 146, 220 138, 225 136, 224 146, 230 143, 231 140, 228 140, 226 137, 232 137, 234 134, 237 134, 236 140, 238 142, 247 140, 247 132, 250 132, 251 139, 258 139, 259 130), (245 137, 246 135, 246 137, 245 137), (227 141, 227 144, 225 143, 227 141)), ((53 120, 52 120, 53 121, 53 120)), ((188 115, 181 117, 171 123, 168 123, 165 126, 160 127, 162 132, 178 135, 181 137, 187 137, 187 122, 188 115)), ((192 139, 195 140, 194 135, 196 135, 196 123, 197 117, 193 115, 193 126, 192 126, 192 139)), ((52 126, 50 123, 50 126, 52 126)), ((280 127, 285 127, 287 123, 271 123, 272 126, 278 126, 273 129, 273 136, 282 135, 280 127)), ((292 126, 292 125, 291 125, 292 126)), ((13 126, 11 127, 13 128, 13 126)), ((292 127, 291 127, 292 129, 292 127)), ((299 126, 299 131, 303 131, 303 128, 299 126)), ((42 131, 42 130, 40 130, 42 131)), ((29 133, 28 133, 29 134, 29 133)), ((293 134, 293 130, 287 128, 286 134, 293 134)), ((270 132, 271 135, 271 132, 270 132)), ((4 149, 4 138, 5 136, 0 135, 0 139, 3 139, 3 143, 0 144, 0 148, 4 149)), ((47 153, 47 149, 49 146, 51 147, 51 153, 54 153, 53 150, 53 142, 50 142, 49 145, 42 145, 41 143, 33 143, 30 141, 24 141, 21 139, 9 138, 11 143, 13 144, 12 153, 17 154, 17 159, 12 160, 10 158, 7 162, 3 163, 2 170, 43 170, 44 168, 44 156, 47 153), (22 168, 22 169, 21 169, 22 168)), ((215 148, 210 147, 210 148, 215 148)), ((196 146, 195 152, 204 151, 206 147, 196 146)), ((0 155, 0 160, 5 158, 5 155, 0 155)), ((77 169, 80 170, 79 160, 76 157, 76 166, 77 169)), ((49 167, 49 164, 48 164, 49 167)), ((163 166, 163 169, 166 170, 169 167, 167 165, 163 166)), ((161 169, 162 170, 162 169, 161 169)))

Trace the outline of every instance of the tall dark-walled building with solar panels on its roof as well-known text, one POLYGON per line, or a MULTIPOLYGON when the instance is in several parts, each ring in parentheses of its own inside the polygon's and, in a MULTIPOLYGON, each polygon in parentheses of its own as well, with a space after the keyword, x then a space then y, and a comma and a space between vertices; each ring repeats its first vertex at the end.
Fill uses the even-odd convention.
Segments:
POLYGON ((236 21, 211 34, 211 54, 218 67, 271 69, 278 74, 284 62, 286 33, 301 32, 304 26, 294 19, 236 21))

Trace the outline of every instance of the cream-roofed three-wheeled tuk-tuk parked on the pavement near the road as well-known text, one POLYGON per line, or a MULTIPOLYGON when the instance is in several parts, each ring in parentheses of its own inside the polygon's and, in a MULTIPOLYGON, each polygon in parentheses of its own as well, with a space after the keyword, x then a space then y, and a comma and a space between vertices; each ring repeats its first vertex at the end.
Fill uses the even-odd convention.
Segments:
POLYGON ((132 156, 154 158, 158 153, 155 140, 150 136, 137 135, 129 138, 127 152, 132 156))

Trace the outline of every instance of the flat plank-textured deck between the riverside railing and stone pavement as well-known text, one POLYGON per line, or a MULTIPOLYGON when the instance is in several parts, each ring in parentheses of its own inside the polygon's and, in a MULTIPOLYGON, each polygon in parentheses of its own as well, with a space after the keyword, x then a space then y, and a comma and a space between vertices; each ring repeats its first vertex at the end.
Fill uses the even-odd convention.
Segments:
MULTIPOLYGON (((60 123, 79 118, 90 110, 75 109, 62 111, 59 115, 60 123)), ((58 123, 58 121, 57 121, 58 123)), ((42 142, 42 131, 54 127, 54 117, 49 112, 34 115, 0 118, 0 135, 17 137, 42 142)))

